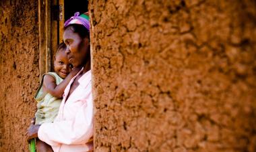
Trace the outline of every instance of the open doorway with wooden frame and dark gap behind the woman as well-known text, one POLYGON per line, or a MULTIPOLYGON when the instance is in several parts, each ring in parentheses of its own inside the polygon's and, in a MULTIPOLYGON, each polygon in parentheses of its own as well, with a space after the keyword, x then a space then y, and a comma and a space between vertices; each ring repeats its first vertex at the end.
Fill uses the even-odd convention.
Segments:
POLYGON ((53 71, 54 55, 63 40, 63 27, 75 12, 88 11, 88 1, 38 0, 39 74, 53 71))

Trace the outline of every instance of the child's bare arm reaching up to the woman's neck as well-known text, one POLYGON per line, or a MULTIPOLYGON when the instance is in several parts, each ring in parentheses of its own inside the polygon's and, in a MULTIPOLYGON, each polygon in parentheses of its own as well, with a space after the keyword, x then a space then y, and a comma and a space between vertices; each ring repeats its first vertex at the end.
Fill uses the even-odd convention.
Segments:
POLYGON ((44 76, 43 87, 46 92, 49 92, 52 96, 62 98, 64 90, 69 84, 69 81, 75 76, 81 68, 73 68, 73 70, 67 75, 67 77, 59 84, 56 84, 56 80, 53 76, 46 74, 44 76))

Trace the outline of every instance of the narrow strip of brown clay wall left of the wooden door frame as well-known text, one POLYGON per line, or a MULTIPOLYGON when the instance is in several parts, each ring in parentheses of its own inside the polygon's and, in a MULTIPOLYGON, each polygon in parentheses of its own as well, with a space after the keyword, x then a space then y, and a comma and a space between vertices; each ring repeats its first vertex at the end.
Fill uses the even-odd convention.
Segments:
POLYGON ((0 1, 0 151, 28 151, 38 86, 38 4, 0 1))

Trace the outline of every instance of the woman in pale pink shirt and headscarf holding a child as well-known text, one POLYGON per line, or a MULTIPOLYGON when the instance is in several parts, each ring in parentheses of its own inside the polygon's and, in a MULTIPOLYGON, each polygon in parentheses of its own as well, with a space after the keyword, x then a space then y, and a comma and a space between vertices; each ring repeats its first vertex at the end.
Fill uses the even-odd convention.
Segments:
POLYGON ((82 70, 65 89, 54 123, 31 125, 28 129, 28 140, 38 137, 53 151, 93 151, 90 22, 88 15, 78 15, 65 22, 63 40, 69 62, 82 70))

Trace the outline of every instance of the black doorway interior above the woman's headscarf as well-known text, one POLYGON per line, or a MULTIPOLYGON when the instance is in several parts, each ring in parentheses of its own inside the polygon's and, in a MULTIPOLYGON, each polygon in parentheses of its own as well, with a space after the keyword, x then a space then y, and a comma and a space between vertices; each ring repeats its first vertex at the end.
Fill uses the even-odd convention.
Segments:
POLYGON ((75 12, 79 11, 80 14, 88 11, 87 0, 64 0, 65 3, 65 21, 74 15, 75 12))

